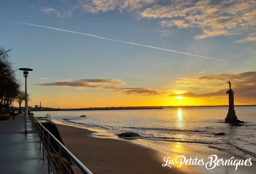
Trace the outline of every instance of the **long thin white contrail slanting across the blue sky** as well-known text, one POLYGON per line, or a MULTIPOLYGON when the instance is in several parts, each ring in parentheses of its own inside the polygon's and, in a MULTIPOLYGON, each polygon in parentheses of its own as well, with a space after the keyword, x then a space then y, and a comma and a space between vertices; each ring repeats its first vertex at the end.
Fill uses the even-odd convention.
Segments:
POLYGON ((52 30, 64 31, 64 32, 75 33, 75 34, 82 34, 82 35, 86 35, 86 36, 90 36, 90 37, 96 37, 96 38, 99 38, 99 39, 105 39, 105 40, 111 40, 111 41, 116 41, 116 42, 122 42, 122 43, 127 43, 127 44, 132 44, 132 45, 138 45, 138 46, 142 46, 142 47, 148 47, 148 48, 153 48, 153 49, 158 49, 158 50, 170 51, 170 52, 180 53, 180 54, 186 54, 186 55, 190 55, 190 56, 202 57, 202 58, 206 58, 206 59, 212 59, 212 60, 219 60, 219 61, 223 61, 223 62, 235 63, 235 62, 230 62, 230 61, 226 61, 226 60, 215 59, 215 58, 211 58, 211 57, 205 57, 205 56, 200 56, 200 55, 195 55, 195 54, 190 54, 190 53, 185 53, 185 52, 165 49, 165 48, 159 48, 159 47, 154 47, 154 46, 149 46, 149 45, 142 45, 142 44, 138 44, 138 43, 134 43, 134 42, 127 42, 127 41, 121 41, 121 40, 116 40, 116 39, 110 39, 110 38, 106 38, 106 37, 100 37, 100 36, 96 36, 96 35, 92 35, 92 34, 86 34, 86 33, 70 31, 70 30, 64 30, 64 29, 60 29, 60 28, 47 27, 47 26, 43 26, 43 25, 36 25, 36 24, 30 24, 30 23, 24 23, 24 22, 8 21, 8 20, 2 20, 2 21, 14 22, 14 23, 25 24, 25 25, 31 25, 31 26, 35 26, 35 27, 48 28, 48 29, 52 29, 52 30))

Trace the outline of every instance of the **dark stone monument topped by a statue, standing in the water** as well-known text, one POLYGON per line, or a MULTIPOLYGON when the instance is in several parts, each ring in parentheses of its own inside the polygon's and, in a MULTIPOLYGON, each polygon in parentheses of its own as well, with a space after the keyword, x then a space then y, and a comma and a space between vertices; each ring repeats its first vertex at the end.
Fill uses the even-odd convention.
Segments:
POLYGON ((244 123, 243 121, 237 119, 234 109, 234 91, 231 89, 231 82, 229 81, 227 83, 229 84, 229 90, 226 92, 226 94, 229 94, 229 112, 227 118, 225 118, 225 123, 244 123))

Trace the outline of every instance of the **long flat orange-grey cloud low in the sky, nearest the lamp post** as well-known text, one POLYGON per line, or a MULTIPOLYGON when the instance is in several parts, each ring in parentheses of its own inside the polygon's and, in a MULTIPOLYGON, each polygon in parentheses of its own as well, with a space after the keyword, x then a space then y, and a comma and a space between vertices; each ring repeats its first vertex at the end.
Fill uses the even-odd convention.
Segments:
POLYGON ((118 79, 80 79, 80 80, 56 80, 53 83, 36 84, 39 86, 52 87, 76 87, 77 89, 94 88, 94 89, 115 89, 125 85, 118 79))

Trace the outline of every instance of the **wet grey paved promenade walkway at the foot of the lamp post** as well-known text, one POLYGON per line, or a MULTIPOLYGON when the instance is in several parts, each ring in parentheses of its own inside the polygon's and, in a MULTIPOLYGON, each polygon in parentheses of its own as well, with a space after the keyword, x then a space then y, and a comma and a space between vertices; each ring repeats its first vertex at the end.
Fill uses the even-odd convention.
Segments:
POLYGON ((15 116, 15 120, 0 121, 0 173, 1 174, 44 174, 47 160, 41 160, 42 150, 38 150, 35 134, 28 119, 25 134, 25 117, 15 116))

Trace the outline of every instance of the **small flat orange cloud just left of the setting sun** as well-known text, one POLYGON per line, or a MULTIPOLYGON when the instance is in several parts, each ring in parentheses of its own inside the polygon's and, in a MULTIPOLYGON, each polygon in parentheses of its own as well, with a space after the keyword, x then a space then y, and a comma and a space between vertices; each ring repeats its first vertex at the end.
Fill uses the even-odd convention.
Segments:
POLYGON ((158 91, 152 91, 150 88, 135 87, 135 88, 117 88, 112 90, 113 92, 121 92, 123 94, 134 94, 134 95, 159 95, 158 91))

